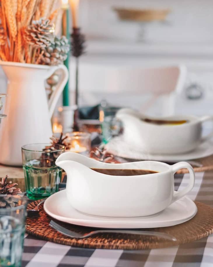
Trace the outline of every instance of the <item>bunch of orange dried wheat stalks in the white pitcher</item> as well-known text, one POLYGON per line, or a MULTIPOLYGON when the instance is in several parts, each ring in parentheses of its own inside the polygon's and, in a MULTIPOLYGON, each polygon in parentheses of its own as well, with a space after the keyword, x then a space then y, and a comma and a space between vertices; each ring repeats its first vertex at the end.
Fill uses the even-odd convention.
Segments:
MULTIPOLYGON (((56 21, 60 0, 0 0, 0 60, 39 63, 43 51, 24 39, 33 20, 56 21)), ((42 38, 42 37, 41 37, 42 38)))

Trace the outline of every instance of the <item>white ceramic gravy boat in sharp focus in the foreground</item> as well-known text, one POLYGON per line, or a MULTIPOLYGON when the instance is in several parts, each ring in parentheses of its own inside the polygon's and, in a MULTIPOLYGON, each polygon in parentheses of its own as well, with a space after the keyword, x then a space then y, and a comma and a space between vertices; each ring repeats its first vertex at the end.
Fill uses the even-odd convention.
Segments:
POLYGON ((78 211, 96 216, 136 217, 158 213, 191 191, 195 182, 193 168, 186 162, 172 166, 157 161, 110 164, 65 152, 57 158, 56 165, 67 173, 69 203, 78 211), (115 176, 91 168, 144 169, 159 173, 115 176), (181 168, 189 170, 190 180, 182 191, 175 192, 174 173, 181 168))

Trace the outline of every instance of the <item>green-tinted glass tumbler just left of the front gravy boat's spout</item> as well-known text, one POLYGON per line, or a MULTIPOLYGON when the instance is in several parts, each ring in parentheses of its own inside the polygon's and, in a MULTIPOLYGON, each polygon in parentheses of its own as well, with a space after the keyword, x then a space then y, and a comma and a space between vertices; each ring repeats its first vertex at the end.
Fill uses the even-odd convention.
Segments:
POLYGON ((29 199, 42 199, 58 191, 62 169, 55 165, 57 157, 65 151, 63 145, 28 144, 22 147, 25 186, 29 199), (50 147, 50 149, 45 149, 50 147))

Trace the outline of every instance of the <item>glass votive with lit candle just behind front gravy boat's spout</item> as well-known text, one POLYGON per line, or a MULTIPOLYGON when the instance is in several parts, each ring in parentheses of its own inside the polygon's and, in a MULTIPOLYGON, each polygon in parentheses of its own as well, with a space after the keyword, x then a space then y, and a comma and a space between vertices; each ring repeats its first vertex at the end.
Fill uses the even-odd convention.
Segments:
MULTIPOLYGON (((88 156, 91 149, 91 137, 88 132, 68 132, 66 142, 70 145, 70 152, 88 156)), ((68 150, 66 150, 68 151, 68 150)))

